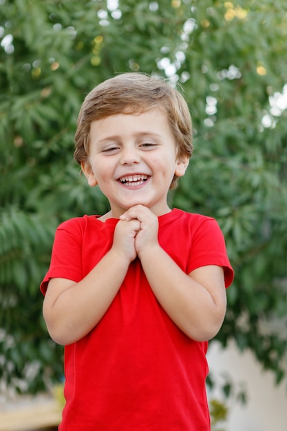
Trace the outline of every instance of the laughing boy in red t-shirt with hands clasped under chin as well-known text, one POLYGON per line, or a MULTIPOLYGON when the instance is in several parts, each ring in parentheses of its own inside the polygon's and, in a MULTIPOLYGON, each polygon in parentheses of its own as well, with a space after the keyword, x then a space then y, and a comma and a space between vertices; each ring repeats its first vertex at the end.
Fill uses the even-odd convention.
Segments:
POLYGON ((192 154, 177 90, 120 74, 90 92, 74 157, 110 211, 63 222, 41 284, 65 345, 61 431, 209 431, 207 340, 233 280, 213 218, 170 209, 192 154))

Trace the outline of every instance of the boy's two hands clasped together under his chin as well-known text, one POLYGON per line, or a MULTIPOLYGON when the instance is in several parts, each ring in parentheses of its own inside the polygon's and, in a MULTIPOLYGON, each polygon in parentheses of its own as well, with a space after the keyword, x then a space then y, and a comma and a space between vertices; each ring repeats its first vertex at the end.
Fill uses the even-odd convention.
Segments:
POLYGON ((113 248, 131 262, 158 246, 158 218, 144 205, 129 208, 116 225, 113 248))

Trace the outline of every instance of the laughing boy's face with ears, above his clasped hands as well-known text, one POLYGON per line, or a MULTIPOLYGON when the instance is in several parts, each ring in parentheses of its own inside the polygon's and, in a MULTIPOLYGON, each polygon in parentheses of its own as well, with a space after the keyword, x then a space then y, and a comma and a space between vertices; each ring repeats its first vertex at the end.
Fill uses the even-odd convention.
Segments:
POLYGON ((176 155, 167 116, 159 109, 116 114, 90 128, 89 158, 82 169, 90 186, 107 196, 111 216, 142 204, 156 215, 169 211, 167 192, 174 174, 184 175, 188 156, 176 155))

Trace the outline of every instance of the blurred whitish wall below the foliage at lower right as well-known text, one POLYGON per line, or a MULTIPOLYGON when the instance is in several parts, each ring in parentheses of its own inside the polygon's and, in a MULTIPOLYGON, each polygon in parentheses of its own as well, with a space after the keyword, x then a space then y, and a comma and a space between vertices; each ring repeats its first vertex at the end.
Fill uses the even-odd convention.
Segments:
POLYGON ((262 371, 251 352, 239 353, 234 344, 222 350, 213 342, 207 359, 214 375, 227 372, 236 384, 246 383, 248 402, 246 406, 239 403, 231 405, 226 430, 287 431, 286 381, 279 387, 275 386, 274 375, 262 371))

